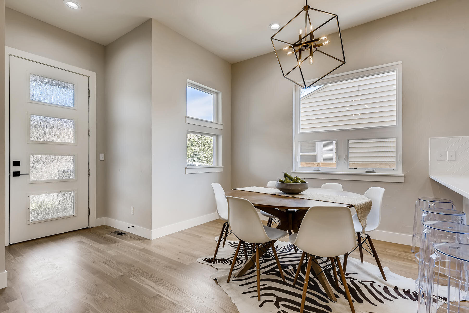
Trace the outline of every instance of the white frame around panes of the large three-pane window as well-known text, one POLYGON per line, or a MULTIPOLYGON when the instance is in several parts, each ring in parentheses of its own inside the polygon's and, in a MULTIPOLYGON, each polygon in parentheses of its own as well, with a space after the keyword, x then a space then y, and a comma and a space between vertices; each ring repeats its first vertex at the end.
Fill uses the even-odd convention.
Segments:
MULTIPOLYGON (((394 62, 375 66, 367 69, 360 69, 346 73, 328 76, 318 82, 317 85, 330 84, 345 79, 353 79, 372 74, 396 71, 396 125, 363 128, 354 130, 332 130, 317 132, 299 131, 299 110, 300 110, 300 89, 293 86, 293 160, 292 167, 294 173, 302 174, 304 178, 326 178, 340 180, 363 180, 380 182, 404 182, 402 173, 402 62, 394 62), (348 168, 348 140, 371 139, 371 138, 396 138, 396 168, 377 168, 377 173, 365 173, 365 168, 348 168), (336 140, 337 146, 337 168, 321 168, 320 171, 313 171, 313 168, 299 166, 299 142, 300 141, 329 141, 336 140), (340 162, 343 164, 340 165, 340 162), (346 164, 346 166, 345 166, 346 164)), ((314 79, 310 80, 314 81, 314 79)))

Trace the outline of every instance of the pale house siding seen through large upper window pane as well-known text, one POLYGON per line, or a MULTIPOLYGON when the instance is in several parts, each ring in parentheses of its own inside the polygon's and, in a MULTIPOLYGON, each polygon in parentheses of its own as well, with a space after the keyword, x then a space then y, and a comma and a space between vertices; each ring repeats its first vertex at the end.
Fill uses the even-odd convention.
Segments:
POLYGON ((300 99, 300 132, 396 125, 395 71, 310 88, 300 99))

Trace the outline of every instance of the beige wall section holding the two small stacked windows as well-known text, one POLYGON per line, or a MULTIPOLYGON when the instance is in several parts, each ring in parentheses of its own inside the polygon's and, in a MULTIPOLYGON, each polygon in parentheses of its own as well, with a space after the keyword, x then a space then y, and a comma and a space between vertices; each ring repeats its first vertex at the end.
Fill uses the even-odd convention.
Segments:
POLYGON ((215 213, 213 182, 231 186, 231 64, 152 20, 152 224, 159 229, 215 213), (223 172, 185 174, 187 79, 221 92, 223 172))

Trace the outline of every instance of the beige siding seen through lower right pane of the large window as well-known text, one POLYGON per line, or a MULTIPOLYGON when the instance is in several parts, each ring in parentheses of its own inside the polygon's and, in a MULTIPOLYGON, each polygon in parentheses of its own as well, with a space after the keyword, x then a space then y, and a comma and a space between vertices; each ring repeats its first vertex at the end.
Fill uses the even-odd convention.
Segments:
POLYGON ((395 168, 396 138, 348 141, 349 168, 395 168))

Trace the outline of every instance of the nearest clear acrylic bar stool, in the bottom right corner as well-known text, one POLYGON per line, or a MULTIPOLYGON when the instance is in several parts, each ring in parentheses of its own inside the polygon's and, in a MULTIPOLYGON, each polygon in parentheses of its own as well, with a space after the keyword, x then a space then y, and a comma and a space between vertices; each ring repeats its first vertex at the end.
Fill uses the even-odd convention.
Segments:
POLYGON ((469 244, 434 244, 427 290, 418 313, 469 312, 469 244))

